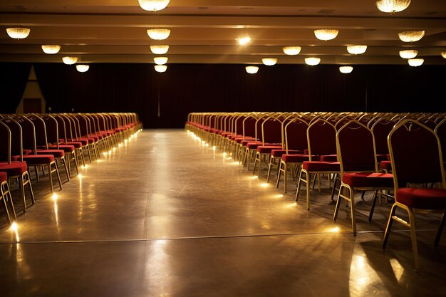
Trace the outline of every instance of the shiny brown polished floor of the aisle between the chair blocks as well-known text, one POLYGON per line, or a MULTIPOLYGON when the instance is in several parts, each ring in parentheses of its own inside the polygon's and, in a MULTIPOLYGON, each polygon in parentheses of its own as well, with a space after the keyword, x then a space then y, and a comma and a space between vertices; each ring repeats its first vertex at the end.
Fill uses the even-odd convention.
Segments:
POLYGON ((81 174, 56 198, 33 183, 16 231, 0 214, 0 296, 446 296, 438 217, 418 217, 415 272, 405 227, 381 249, 390 204, 369 223, 358 198, 353 236, 324 180, 308 212, 291 178, 283 194, 184 130, 144 130, 81 174))

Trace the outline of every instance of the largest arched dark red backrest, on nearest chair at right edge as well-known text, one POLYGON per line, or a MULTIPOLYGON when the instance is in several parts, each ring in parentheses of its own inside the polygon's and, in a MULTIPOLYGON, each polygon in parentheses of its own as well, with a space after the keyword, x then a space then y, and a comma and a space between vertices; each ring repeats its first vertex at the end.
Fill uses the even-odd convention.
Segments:
POLYGON ((446 187, 440 138, 432 129, 416 120, 401 120, 390 132, 388 145, 396 189, 431 182, 446 187))

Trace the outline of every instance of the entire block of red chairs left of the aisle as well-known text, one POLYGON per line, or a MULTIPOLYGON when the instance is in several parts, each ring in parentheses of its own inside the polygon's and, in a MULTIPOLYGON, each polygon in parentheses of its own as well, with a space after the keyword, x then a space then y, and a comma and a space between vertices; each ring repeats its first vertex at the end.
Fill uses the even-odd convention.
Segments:
POLYGON ((111 152, 113 147, 141 128, 136 113, 0 115, 1 201, 9 224, 16 220, 10 181, 16 182, 21 190, 25 213, 26 189, 31 205, 36 202, 31 185, 33 179, 38 182, 47 172, 51 193, 53 175, 62 189, 59 168, 65 170, 68 182, 73 171, 79 173, 81 163, 85 166, 85 160, 90 163, 97 160, 101 153, 111 152), (34 178, 31 177, 31 169, 34 178))

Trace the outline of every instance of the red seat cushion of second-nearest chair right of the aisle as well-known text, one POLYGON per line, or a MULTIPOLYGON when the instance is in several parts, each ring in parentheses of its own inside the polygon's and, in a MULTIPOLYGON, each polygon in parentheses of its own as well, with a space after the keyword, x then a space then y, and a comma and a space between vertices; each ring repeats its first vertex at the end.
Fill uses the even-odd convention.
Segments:
POLYGON ((380 172, 344 173, 342 182, 351 187, 393 188, 393 174, 380 172))

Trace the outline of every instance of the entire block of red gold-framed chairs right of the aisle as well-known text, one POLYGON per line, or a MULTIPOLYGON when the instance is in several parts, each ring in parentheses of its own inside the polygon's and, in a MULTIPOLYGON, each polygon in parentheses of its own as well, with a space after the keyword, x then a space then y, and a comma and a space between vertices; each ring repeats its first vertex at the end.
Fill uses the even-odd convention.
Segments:
POLYGON ((229 152, 248 169, 254 159, 253 174, 257 172, 259 177, 261 161, 269 160, 266 181, 269 182, 276 166, 276 187, 284 175, 285 192, 286 174, 291 171, 297 180, 296 201, 301 187, 306 186, 307 209, 311 184, 314 188, 317 179, 321 191, 321 177, 326 175, 330 186, 333 182, 331 199, 336 184, 340 184, 333 222, 341 202, 348 202, 354 235, 355 192, 362 192, 362 198, 365 191, 374 192, 369 221, 378 197, 395 199, 383 247, 393 221, 410 226, 416 269, 419 264, 415 212, 442 214, 435 245, 440 241, 446 212, 442 162, 446 149, 445 114, 191 113, 186 128, 210 145, 229 152), (428 184, 430 187, 426 187, 428 184), (395 215, 398 207, 408 213, 409 222, 395 215))

